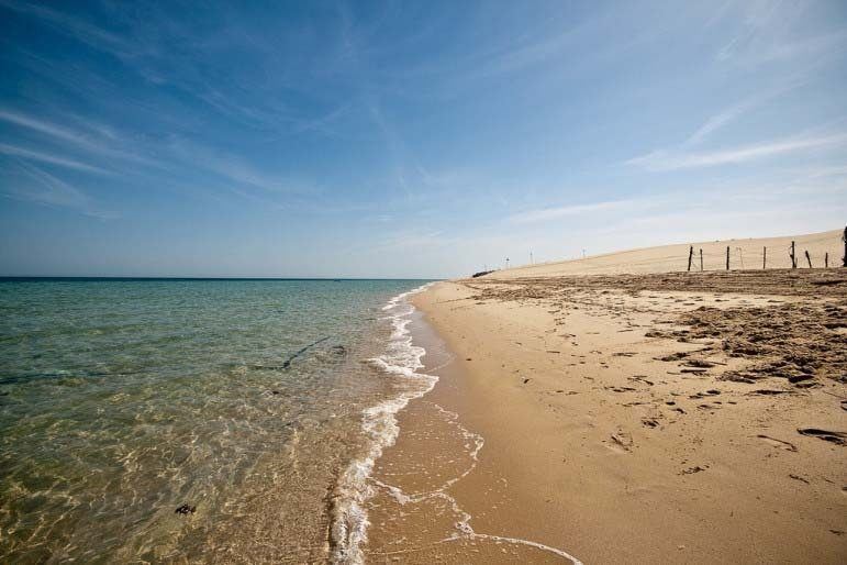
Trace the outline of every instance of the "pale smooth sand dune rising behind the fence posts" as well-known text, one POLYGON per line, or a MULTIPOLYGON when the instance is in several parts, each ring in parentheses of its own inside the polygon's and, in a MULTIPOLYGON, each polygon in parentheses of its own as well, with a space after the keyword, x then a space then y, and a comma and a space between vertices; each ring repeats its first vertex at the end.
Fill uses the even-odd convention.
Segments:
POLYGON ((813 267, 823 267, 824 257, 829 254, 829 266, 840 265, 844 255, 844 230, 787 235, 781 237, 760 237, 749 240, 722 240, 713 242, 679 243, 629 250, 604 255, 594 255, 584 259, 561 261, 524 265, 498 270, 487 278, 556 277, 564 275, 617 275, 623 273, 671 273, 688 268, 688 255, 694 247, 692 270, 700 270, 700 250, 703 250, 703 269, 726 269, 726 247, 729 247, 731 269, 759 269, 762 266, 762 250, 767 247, 768 268, 790 268, 789 251, 795 242, 798 267, 807 268, 807 251, 813 267))

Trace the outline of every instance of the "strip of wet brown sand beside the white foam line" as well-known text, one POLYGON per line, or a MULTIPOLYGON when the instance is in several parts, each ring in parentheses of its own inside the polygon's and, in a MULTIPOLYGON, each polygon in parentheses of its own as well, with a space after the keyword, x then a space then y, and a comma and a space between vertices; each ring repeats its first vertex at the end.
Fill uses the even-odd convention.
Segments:
MULTIPOLYGON (((427 290, 410 295, 411 302, 427 290)), ((484 530, 476 525, 479 497, 489 499, 502 479, 478 468, 488 447, 483 435, 465 422, 469 395, 458 358, 425 312, 415 308, 410 318, 413 343, 425 350, 420 370, 437 380, 397 413, 401 431, 375 463, 366 561, 581 565, 559 546, 517 535, 508 520, 484 530)), ((499 505, 510 503, 503 492, 498 496, 499 505)))

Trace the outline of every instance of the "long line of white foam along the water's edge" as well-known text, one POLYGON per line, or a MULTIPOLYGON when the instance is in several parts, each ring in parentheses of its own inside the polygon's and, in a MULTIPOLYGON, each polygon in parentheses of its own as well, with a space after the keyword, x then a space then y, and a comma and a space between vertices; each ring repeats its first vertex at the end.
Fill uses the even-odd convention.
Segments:
POLYGON ((423 368, 421 358, 426 350, 412 343, 408 329, 414 307, 406 298, 427 286, 398 295, 382 307, 391 320, 391 339, 386 353, 369 361, 386 373, 403 377, 408 386, 395 398, 368 408, 363 413, 361 428, 370 445, 365 456, 354 461, 338 480, 331 532, 332 558, 335 563, 364 563, 361 545, 367 541, 368 530, 366 502, 374 494, 368 478, 374 470, 374 463, 382 455, 382 450, 393 445, 400 433, 397 413, 411 400, 432 390, 438 381, 438 377, 417 373, 417 369, 423 368))

